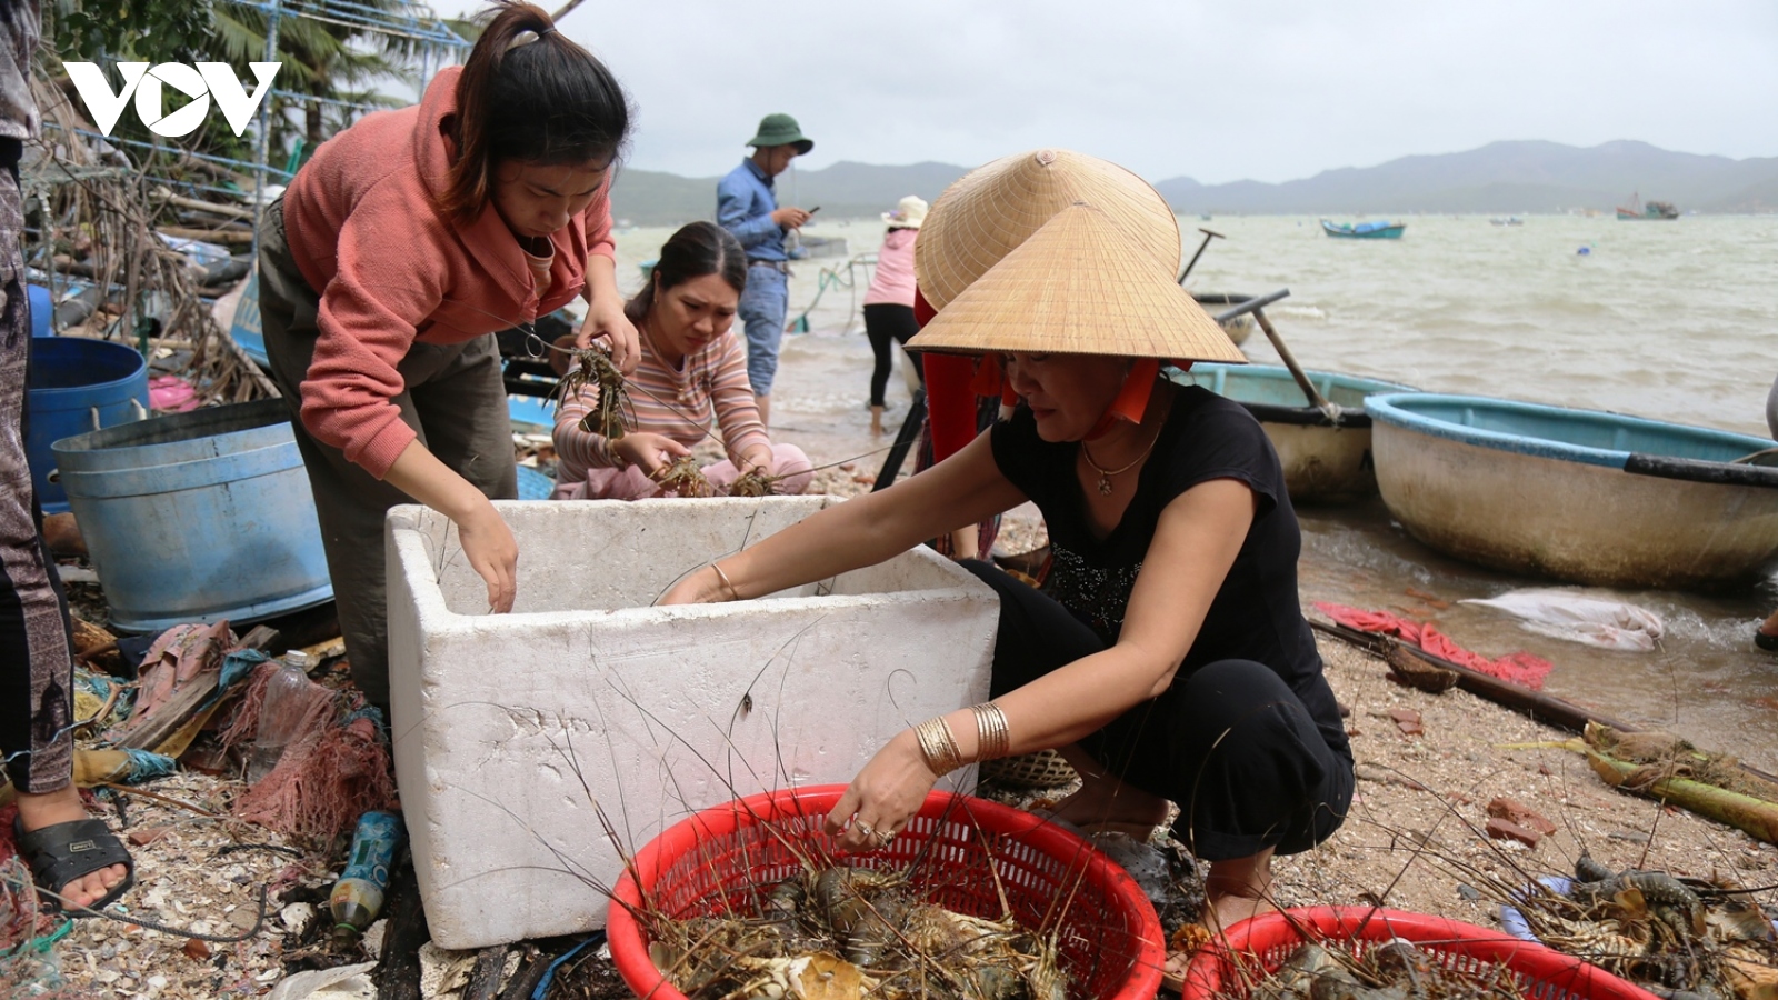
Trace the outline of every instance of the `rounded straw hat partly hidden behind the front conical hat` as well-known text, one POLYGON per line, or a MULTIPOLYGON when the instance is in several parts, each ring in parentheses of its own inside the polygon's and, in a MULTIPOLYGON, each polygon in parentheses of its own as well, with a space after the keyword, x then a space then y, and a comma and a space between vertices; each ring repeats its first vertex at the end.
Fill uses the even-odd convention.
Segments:
POLYGON ((933 310, 1076 201, 1097 205, 1157 270, 1179 274, 1179 219, 1149 181, 1097 157, 1033 149, 978 167, 944 189, 914 242, 914 278, 933 310))

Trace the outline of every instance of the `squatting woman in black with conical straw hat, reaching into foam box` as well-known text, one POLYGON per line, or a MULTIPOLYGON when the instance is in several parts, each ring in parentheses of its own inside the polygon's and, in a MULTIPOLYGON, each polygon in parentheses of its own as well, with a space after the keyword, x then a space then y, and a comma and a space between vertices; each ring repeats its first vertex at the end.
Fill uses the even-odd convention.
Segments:
POLYGON ((992 701, 889 740, 827 827, 893 838, 946 772, 1054 747, 1081 772, 1056 819, 1154 827, 1211 863, 1221 925, 1269 909, 1273 854, 1344 819, 1351 749, 1296 594, 1301 534, 1259 423, 1159 375, 1243 361, 1173 281, 1179 228, 1134 174, 1065 151, 957 181, 921 228, 937 310, 910 349, 981 354, 1012 416, 932 470, 692 573, 665 598, 747 600, 889 559, 1035 502, 1042 591, 965 562, 1001 598, 992 701))

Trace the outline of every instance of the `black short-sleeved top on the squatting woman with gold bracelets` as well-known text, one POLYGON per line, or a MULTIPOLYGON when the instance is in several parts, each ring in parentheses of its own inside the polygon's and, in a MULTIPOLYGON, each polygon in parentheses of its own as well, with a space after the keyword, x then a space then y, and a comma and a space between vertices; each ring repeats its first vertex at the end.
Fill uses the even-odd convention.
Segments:
POLYGON ((1236 479, 1257 496, 1253 525, 1177 678, 1216 660, 1255 660, 1271 667, 1309 708, 1328 746, 1348 751, 1334 690, 1321 673, 1314 632, 1296 593, 1301 530, 1284 489, 1278 454, 1259 422, 1209 390, 1181 386, 1138 473, 1136 496, 1111 534, 1095 539, 1086 496, 1074 473, 1077 441, 1044 441, 1021 406, 994 427, 994 463, 1044 512, 1054 560, 1044 593, 1086 623, 1108 646, 1124 626, 1124 609, 1149 555, 1161 511, 1200 482, 1236 479))

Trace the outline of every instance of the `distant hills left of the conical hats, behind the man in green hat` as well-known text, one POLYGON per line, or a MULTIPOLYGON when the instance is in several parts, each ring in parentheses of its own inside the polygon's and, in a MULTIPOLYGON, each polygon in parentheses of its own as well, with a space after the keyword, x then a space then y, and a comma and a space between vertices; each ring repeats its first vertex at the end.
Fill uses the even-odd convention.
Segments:
MULTIPOLYGON (((878 167, 841 160, 820 171, 786 173, 775 183, 779 205, 820 206, 823 219, 869 219, 893 210, 909 194, 937 201, 965 173, 969 167, 953 164, 878 167)), ((715 219, 718 180, 626 169, 612 187, 612 214, 638 226, 715 219)))

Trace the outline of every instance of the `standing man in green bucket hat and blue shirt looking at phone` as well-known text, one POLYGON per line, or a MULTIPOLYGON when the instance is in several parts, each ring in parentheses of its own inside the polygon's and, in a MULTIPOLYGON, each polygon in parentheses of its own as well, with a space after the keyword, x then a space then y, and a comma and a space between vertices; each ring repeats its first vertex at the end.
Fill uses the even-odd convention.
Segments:
POLYGON ((809 221, 809 212, 802 208, 779 208, 772 178, 814 149, 814 141, 802 133, 795 117, 768 114, 747 144, 754 153, 717 183, 717 222, 747 247, 747 290, 738 310, 747 329, 747 381, 754 388, 759 422, 770 423, 772 379, 789 310, 784 235, 809 221))

